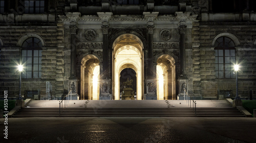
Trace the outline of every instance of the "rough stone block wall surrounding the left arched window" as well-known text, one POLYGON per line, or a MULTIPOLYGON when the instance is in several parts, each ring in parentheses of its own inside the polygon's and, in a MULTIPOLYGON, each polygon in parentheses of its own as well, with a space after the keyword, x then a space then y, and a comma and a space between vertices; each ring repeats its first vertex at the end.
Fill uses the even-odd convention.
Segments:
MULTIPOLYGON (((58 80, 57 78, 59 76, 58 73, 61 72, 57 70, 57 65, 63 65, 61 63, 63 60, 61 57, 63 50, 58 48, 57 45, 62 42, 63 38, 61 37, 63 37, 63 33, 58 31, 57 26, 32 26, 26 23, 23 25, 16 26, 13 24, 1 26, 0 28, 0 38, 4 43, 0 60, 1 91, 8 90, 10 97, 18 95, 19 74, 16 66, 19 63, 21 51, 18 44, 22 45, 23 43, 23 41, 19 40, 24 37, 24 40, 26 40, 26 37, 29 38, 33 37, 33 35, 38 35, 43 39, 42 43, 45 44, 42 47, 41 79, 22 79, 22 95, 25 94, 24 91, 40 90, 41 96, 44 96, 46 94, 46 81, 52 82, 53 95, 62 94, 56 91, 59 87, 56 87, 55 80, 60 81, 57 82, 57 85, 63 86, 63 79, 58 80)), ((58 67, 58 69, 61 68, 58 67)))

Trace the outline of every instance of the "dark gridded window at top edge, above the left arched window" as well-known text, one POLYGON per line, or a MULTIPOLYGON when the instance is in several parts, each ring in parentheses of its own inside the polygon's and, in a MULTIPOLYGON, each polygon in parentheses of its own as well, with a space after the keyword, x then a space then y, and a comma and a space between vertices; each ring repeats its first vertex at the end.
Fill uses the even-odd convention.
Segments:
POLYGON ((44 13, 45 1, 24 1, 25 13, 44 13))

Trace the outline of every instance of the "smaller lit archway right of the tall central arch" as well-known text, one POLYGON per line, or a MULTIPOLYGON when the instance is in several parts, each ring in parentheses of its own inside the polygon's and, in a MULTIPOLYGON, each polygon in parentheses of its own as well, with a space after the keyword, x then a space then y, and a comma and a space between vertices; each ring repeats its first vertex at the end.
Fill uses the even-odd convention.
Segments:
POLYGON ((168 54, 157 59, 157 99, 176 99, 175 60, 168 54))

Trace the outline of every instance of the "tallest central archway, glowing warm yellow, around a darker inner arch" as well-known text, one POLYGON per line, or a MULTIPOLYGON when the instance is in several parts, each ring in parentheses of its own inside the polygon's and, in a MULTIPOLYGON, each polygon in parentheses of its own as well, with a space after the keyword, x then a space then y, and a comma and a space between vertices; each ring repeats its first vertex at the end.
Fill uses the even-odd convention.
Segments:
POLYGON ((121 71, 131 68, 136 72, 136 94, 137 100, 143 95, 143 44, 133 34, 123 34, 116 38, 113 43, 113 89, 114 99, 120 99, 120 76, 121 71))

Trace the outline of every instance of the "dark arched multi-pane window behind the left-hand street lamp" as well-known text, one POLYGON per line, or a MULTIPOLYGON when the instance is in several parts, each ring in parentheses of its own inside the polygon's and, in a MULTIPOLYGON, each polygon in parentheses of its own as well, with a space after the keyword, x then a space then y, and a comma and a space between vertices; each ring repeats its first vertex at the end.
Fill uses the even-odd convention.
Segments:
POLYGON ((22 44, 22 63, 25 66, 23 78, 41 77, 42 42, 35 37, 22 44))

